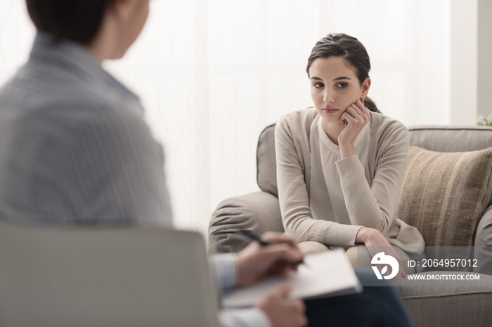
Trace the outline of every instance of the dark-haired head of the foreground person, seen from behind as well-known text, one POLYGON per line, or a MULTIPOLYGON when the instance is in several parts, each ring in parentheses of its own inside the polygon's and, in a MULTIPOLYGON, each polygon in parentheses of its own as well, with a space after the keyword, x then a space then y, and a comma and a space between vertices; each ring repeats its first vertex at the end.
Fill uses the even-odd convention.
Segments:
POLYGON ((149 0, 26 0, 39 32, 86 46, 102 61, 122 58, 148 18, 149 0))

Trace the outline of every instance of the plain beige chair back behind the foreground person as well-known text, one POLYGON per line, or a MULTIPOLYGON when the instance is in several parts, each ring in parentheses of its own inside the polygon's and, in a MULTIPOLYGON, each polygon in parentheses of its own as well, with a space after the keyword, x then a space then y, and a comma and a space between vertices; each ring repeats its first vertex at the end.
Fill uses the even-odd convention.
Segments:
POLYGON ((0 222, 0 326, 218 326, 196 232, 0 222))

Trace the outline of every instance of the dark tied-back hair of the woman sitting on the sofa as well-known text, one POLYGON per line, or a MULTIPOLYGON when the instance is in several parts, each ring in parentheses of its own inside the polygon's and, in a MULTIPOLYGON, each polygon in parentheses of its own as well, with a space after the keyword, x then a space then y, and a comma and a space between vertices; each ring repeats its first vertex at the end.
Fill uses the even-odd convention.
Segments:
MULTIPOLYGON (((309 68, 314 60, 318 58, 340 57, 344 58, 347 64, 354 69, 359 84, 362 84, 369 77, 370 60, 368 51, 354 36, 347 34, 328 34, 320 41, 316 42, 311 55, 308 58, 306 72, 309 76, 309 68)), ((370 98, 364 100, 365 107, 372 112, 380 112, 375 103, 370 98)))

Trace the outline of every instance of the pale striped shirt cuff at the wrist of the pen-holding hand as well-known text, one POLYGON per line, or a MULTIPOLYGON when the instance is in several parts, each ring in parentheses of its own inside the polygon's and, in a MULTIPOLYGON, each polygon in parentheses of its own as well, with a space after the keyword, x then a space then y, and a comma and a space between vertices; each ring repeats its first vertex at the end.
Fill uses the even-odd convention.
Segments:
POLYGON ((236 283, 236 255, 235 253, 222 253, 210 257, 212 273, 215 277, 216 286, 224 293, 231 291, 236 283))

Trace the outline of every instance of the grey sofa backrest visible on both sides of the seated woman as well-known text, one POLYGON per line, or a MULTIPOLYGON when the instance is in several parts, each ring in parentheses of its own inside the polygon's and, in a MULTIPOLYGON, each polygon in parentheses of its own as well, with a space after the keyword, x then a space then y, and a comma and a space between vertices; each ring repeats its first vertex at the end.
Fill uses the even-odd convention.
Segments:
MULTIPOLYGON (((465 152, 492 147, 492 127, 488 126, 413 126, 410 145, 439 152, 465 152)), ((266 126, 257 147, 259 188, 278 196, 275 158, 275 124, 266 126)))

